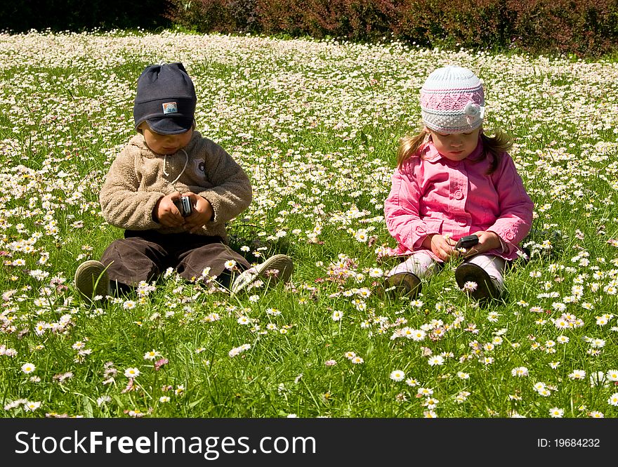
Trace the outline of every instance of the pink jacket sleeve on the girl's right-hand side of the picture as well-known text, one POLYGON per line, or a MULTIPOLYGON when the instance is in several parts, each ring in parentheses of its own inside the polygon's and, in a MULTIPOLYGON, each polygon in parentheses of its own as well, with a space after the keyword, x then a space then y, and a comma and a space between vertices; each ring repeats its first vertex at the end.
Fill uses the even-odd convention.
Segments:
POLYGON ((498 192, 500 215, 487 230, 497 233, 507 246, 505 252, 510 254, 530 232, 534 204, 510 155, 502 155, 499 168, 492 173, 492 180, 498 192))

